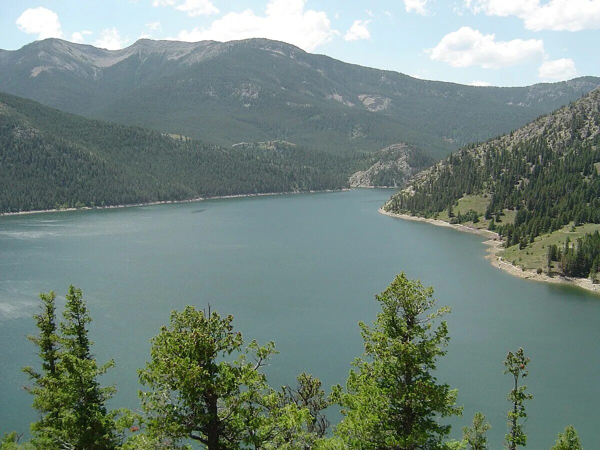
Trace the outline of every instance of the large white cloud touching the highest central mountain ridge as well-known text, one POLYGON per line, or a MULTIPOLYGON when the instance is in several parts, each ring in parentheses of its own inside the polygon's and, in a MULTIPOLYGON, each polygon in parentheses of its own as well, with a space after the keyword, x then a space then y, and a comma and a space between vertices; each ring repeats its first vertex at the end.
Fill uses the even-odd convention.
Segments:
POLYGON ((294 44, 307 52, 331 40, 338 31, 324 11, 304 10, 305 0, 271 0, 265 15, 247 9, 227 13, 208 28, 183 30, 175 38, 180 41, 231 41, 248 38, 268 38, 294 44))

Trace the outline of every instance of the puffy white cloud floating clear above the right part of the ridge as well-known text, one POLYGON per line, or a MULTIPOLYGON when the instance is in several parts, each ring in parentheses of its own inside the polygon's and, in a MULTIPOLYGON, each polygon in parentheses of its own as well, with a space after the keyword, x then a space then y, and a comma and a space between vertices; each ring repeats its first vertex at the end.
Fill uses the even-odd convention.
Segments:
POLYGON ((496 41, 493 34, 481 34, 468 26, 446 34, 433 49, 426 50, 435 61, 447 62, 452 67, 479 66, 500 68, 523 64, 544 57, 544 41, 496 41))

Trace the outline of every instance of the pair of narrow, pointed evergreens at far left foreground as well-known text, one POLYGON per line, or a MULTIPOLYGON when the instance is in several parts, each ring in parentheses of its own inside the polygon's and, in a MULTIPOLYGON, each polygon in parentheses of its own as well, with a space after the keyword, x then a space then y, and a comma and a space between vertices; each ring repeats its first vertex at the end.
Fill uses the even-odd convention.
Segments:
POLYGON ((69 287, 64 319, 57 334, 54 292, 40 295, 41 313, 35 316, 40 334, 29 337, 39 349, 41 372, 23 371, 34 380, 26 389, 34 395, 40 420, 31 425, 32 443, 43 449, 113 449, 118 444, 115 423, 119 411, 108 412, 106 401, 115 388, 103 388, 97 377, 113 367, 98 367, 88 338, 91 322, 80 289, 69 287))

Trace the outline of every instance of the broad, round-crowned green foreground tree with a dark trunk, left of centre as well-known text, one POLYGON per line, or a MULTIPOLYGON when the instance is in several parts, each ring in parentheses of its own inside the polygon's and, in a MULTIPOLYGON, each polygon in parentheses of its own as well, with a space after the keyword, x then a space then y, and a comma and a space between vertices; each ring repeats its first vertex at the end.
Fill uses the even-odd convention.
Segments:
POLYGON ((268 412, 277 396, 260 368, 276 353, 274 344, 253 341, 243 352, 232 320, 187 306, 172 311, 170 326, 152 338, 152 359, 139 371, 140 382, 150 388, 140 396, 151 439, 171 448, 192 439, 208 450, 238 448, 240 442, 262 446, 272 439, 264 429, 275 428, 268 412), (240 354, 228 361, 233 353, 240 354))

